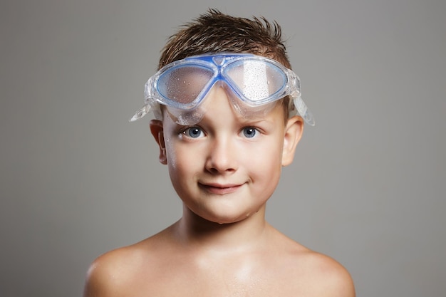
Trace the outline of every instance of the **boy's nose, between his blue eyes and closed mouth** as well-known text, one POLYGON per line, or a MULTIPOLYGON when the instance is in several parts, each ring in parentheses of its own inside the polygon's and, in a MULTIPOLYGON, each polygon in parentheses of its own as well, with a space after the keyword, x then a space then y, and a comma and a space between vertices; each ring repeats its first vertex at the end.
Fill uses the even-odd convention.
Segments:
POLYGON ((229 137, 216 135, 209 146, 206 170, 212 174, 229 174, 237 171, 237 149, 229 137))

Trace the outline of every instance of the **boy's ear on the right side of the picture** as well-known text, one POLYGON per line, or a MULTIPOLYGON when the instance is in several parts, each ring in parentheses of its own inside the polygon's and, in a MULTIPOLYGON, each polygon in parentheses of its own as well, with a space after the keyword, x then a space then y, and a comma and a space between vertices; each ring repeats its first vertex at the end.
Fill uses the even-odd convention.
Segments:
POLYGON ((282 151, 282 166, 290 165, 294 160, 296 146, 304 132, 304 120, 299 116, 289 118, 284 132, 284 149, 282 151))

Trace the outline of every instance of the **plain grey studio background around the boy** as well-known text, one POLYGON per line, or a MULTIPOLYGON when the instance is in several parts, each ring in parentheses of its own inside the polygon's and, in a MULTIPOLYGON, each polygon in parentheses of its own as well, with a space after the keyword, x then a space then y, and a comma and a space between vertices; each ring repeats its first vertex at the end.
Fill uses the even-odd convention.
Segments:
POLYGON ((80 296, 96 256, 180 217, 148 120, 127 120, 208 7, 278 21, 316 115, 269 222, 358 296, 445 296, 442 0, 1 1, 0 296, 80 296))

